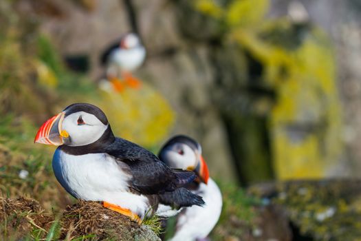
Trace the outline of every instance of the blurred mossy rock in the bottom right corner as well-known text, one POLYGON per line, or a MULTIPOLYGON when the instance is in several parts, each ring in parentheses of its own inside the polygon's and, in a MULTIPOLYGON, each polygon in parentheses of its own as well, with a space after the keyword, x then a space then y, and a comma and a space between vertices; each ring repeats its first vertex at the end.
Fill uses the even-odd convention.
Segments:
POLYGON ((360 240, 361 180, 329 179, 268 183, 250 193, 281 205, 296 231, 311 240, 360 240))

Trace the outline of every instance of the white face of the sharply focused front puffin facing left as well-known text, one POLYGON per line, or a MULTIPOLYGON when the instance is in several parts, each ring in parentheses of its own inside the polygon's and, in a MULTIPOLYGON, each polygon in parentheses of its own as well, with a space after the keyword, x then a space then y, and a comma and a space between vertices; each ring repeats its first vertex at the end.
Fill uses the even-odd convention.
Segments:
POLYGON ((81 146, 96 142, 107 127, 94 114, 75 112, 64 118, 61 130, 69 134, 67 145, 81 146))

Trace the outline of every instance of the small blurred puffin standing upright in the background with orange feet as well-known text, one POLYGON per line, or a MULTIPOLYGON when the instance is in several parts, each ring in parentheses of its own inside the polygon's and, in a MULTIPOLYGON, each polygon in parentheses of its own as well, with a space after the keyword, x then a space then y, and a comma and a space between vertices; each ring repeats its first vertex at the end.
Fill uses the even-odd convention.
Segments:
POLYGON ((145 56, 146 50, 139 36, 133 32, 124 34, 120 41, 105 50, 100 61, 102 65, 107 65, 107 80, 113 84, 115 90, 122 92, 125 85, 133 88, 141 86, 138 78, 131 73, 142 65, 145 56), (120 78, 123 81, 120 81, 120 78))

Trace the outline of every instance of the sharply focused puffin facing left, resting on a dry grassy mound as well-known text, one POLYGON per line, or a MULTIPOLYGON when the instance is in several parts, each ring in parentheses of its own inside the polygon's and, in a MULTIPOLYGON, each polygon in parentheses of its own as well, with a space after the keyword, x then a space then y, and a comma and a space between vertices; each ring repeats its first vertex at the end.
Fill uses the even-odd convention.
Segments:
POLYGON ((142 222, 145 216, 173 216, 203 199, 183 186, 196 176, 171 169, 157 156, 115 137, 107 116, 95 105, 75 103, 47 120, 35 143, 57 145, 54 174, 72 196, 142 222))

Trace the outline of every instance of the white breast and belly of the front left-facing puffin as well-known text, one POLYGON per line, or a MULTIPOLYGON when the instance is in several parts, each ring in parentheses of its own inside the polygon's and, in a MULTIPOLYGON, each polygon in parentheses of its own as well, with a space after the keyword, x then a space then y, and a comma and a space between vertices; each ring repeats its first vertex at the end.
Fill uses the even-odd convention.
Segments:
POLYGON ((129 191, 131 175, 121 164, 108 154, 73 156, 61 149, 56 149, 52 162, 58 182, 75 198, 110 202, 143 218, 149 200, 129 191))

